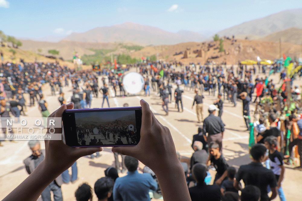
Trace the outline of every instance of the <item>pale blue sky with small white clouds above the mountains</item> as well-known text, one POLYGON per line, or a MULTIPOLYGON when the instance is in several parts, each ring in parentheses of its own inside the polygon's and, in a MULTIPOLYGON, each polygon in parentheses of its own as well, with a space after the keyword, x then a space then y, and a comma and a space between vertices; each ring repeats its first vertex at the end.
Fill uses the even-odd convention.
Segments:
POLYGON ((0 30, 16 37, 40 38, 134 22, 172 32, 190 30, 215 33, 294 8, 302 8, 302 1, 0 0, 0 30))

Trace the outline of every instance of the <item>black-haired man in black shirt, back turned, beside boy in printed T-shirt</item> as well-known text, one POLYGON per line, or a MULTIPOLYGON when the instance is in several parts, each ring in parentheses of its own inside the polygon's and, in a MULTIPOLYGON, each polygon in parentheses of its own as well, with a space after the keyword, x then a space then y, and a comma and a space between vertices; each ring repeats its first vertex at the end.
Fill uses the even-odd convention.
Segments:
POLYGON ((234 187, 242 190, 239 182, 243 180, 244 185, 254 185, 261 191, 261 200, 268 201, 277 196, 277 182, 273 171, 263 167, 261 162, 265 160, 266 148, 263 144, 255 144, 251 151, 252 162, 248 165, 241 165, 234 181, 234 187), (271 188, 271 197, 268 197, 267 187, 271 188))

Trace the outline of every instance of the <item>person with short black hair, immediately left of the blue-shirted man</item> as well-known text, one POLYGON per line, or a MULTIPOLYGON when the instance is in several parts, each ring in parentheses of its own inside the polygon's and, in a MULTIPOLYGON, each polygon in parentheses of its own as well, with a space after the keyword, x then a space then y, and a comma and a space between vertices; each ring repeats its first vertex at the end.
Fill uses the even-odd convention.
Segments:
POLYGON ((95 182, 94 190, 98 201, 109 201, 112 199, 114 181, 110 177, 102 177, 95 182), (111 199, 110 199, 111 198, 111 199))

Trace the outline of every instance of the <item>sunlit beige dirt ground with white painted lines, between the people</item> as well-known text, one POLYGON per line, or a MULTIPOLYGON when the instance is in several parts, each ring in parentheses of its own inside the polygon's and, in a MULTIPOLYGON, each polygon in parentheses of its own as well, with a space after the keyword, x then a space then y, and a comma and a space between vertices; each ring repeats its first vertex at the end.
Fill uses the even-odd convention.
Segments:
MULTIPOLYGON (((275 82, 279 81, 278 75, 271 77, 275 82)), ((301 81, 301 80, 300 80, 301 81)), ((296 80, 295 83, 301 83, 296 80)), ((101 82, 100 82, 101 83, 101 82)), ((176 86, 174 86, 176 88, 176 86)), ((65 98, 70 101, 72 95, 71 86, 64 87, 65 98)), ((60 104, 58 101, 58 95, 51 96, 50 87, 46 86, 43 90, 44 96, 47 97, 48 109, 50 112, 57 109, 60 104)), ((119 93, 118 93, 119 94, 119 93)), ((124 103, 128 103, 129 106, 139 106, 140 99, 146 100, 156 118, 165 126, 169 127, 173 140, 176 146, 176 150, 180 152, 183 157, 191 157, 193 150, 191 149, 192 136, 197 133, 198 126, 202 125, 197 123, 197 117, 195 108, 191 109, 194 93, 193 91, 185 91, 183 94, 183 106, 184 111, 178 112, 175 108, 175 102, 169 104, 169 115, 166 116, 162 109, 162 102, 160 97, 151 92, 151 96, 144 96, 143 92, 136 96, 127 97, 113 97, 114 92, 110 90, 109 102, 111 106, 122 107, 124 103)), ((207 117, 208 106, 213 103, 216 96, 209 96, 208 93, 204 93, 204 107, 203 115, 207 117)), ((92 99, 92 108, 101 107, 102 98, 92 99)), ((107 105, 107 104, 105 104, 107 105)), ((251 106, 253 109, 254 106, 251 106)), ((27 115, 29 117, 40 117, 40 111, 38 106, 27 107, 27 115)), ((224 102, 222 120, 225 126, 225 133, 223 139, 223 155, 226 158, 229 165, 233 165, 239 168, 240 165, 250 162, 249 149, 248 149, 248 137, 249 133, 246 131, 242 116, 242 102, 238 101, 236 107, 228 101, 224 102)), ((5 141, 3 147, 0 147, 0 199, 3 199, 11 190, 18 186, 27 176, 27 172, 24 168, 23 160, 31 155, 31 151, 27 146, 28 141, 5 141)), ((42 147, 44 142, 41 141, 42 147)), ((101 152, 101 157, 90 159, 90 157, 82 157, 77 161, 78 166, 78 180, 72 184, 63 184, 62 192, 64 200, 75 200, 74 193, 77 187, 86 182, 90 186, 94 186, 97 179, 104 176, 104 170, 110 166, 114 166, 114 155, 111 152, 111 148, 104 148, 101 152)), ((140 164, 140 168, 143 168, 143 164, 140 164)), ((47 174, 47 173, 45 173, 47 174)), ((214 177, 215 171, 211 171, 212 177, 214 177)), ((120 174, 120 176, 124 176, 120 174)), ((294 170, 290 166, 286 166, 285 178, 283 181, 283 190, 287 200, 298 200, 302 197, 302 192, 297 189, 302 189, 302 171, 294 170)), ((96 195, 93 195, 93 200, 97 200, 96 195)), ((279 200, 277 197, 275 200, 279 200)))

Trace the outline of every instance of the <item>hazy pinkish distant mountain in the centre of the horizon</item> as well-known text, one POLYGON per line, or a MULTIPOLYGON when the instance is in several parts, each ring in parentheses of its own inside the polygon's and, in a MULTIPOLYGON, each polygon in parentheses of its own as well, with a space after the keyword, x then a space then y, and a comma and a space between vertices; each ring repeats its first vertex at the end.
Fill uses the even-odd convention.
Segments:
POLYGON ((176 44, 180 42, 202 41, 199 33, 191 31, 168 32, 132 22, 110 27, 97 27, 84 33, 72 33, 64 40, 78 42, 133 42, 140 45, 176 44))

